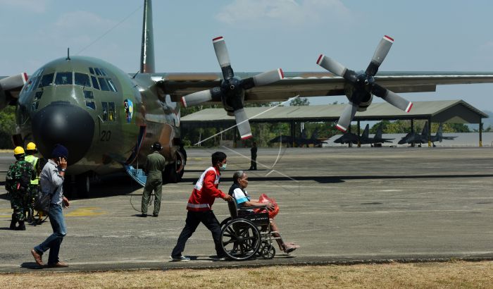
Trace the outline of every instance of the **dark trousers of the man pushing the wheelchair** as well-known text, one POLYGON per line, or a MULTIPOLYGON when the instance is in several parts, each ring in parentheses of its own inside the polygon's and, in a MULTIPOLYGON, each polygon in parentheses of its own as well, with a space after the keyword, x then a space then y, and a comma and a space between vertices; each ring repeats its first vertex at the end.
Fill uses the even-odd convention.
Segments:
POLYGON ((218 257, 224 257, 225 253, 223 247, 221 246, 221 228, 219 226, 218 219, 214 215, 213 211, 188 211, 187 220, 185 221, 185 227, 178 237, 175 248, 171 252, 171 257, 180 257, 183 250, 185 250, 185 243, 188 238, 192 236, 195 232, 199 223, 204 223, 204 225, 211 231, 214 244, 216 245, 216 254, 218 257))

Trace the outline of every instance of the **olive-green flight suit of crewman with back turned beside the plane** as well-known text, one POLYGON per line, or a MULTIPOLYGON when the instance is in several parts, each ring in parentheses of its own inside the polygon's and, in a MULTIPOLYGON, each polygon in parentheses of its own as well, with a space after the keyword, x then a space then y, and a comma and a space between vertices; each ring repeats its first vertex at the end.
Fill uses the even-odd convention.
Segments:
POLYGON ((153 215, 158 216, 159 214, 159 209, 161 209, 161 195, 163 193, 163 171, 165 164, 166 160, 159 152, 153 152, 146 158, 146 164, 143 169, 147 175, 147 180, 144 186, 144 193, 142 194, 142 214, 147 214, 147 206, 149 205, 149 198, 153 190, 155 195, 153 215))

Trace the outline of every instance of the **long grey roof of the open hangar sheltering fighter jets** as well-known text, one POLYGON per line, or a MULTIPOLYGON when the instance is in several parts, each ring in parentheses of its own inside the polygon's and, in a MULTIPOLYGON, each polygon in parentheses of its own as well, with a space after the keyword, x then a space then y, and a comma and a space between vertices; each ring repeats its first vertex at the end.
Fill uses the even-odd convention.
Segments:
MULTIPOLYGON (((271 121, 337 121, 347 104, 313 106, 246 107, 246 115, 252 123, 271 121)), ((428 119, 435 123, 480 123, 488 118, 486 113, 463 100, 413 102, 409 113, 387 102, 373 103, 366 111, 356 112, 353 121, 381 121, 397 119, 428 119)), ((183 124, 196 122, 234 123, 234 116, 227 116, 224 109, 204 109, 181 118, 183 124)), ((210 123, 209 123, 210 124, 210 123)))

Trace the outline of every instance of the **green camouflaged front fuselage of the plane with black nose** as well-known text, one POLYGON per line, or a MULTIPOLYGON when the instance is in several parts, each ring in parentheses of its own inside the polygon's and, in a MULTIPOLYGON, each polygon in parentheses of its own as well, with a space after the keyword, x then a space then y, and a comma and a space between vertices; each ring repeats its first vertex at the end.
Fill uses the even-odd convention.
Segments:
POLYGON ((150 153, 152 142, 160 141, 166 160, 173 162, 180 106, 158 90, 149 75, 131 78, 106 61, 82 56, 56 59, 39 68, 20 92, 18 133, 23 142, 35 142, 46 157, 54 143, 67 146, 70 174, 104 174, 122 169, 135 149, 141 125, 145 125, 139 160, 143 162, 150 153), (49 83, 46 75, 51 73, 54 78, 49 83), (75 83, 76 75, 79 83, 75 83), (132 103, 130 121, 125 100, 132 103))

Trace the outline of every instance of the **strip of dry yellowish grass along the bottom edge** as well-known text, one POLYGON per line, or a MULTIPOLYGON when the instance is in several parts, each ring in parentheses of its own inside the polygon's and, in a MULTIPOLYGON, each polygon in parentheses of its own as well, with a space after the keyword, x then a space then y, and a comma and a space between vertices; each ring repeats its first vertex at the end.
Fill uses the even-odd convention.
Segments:
POLYGON ((0 274, 3 288, 492 288, 493 262, 0 274))

